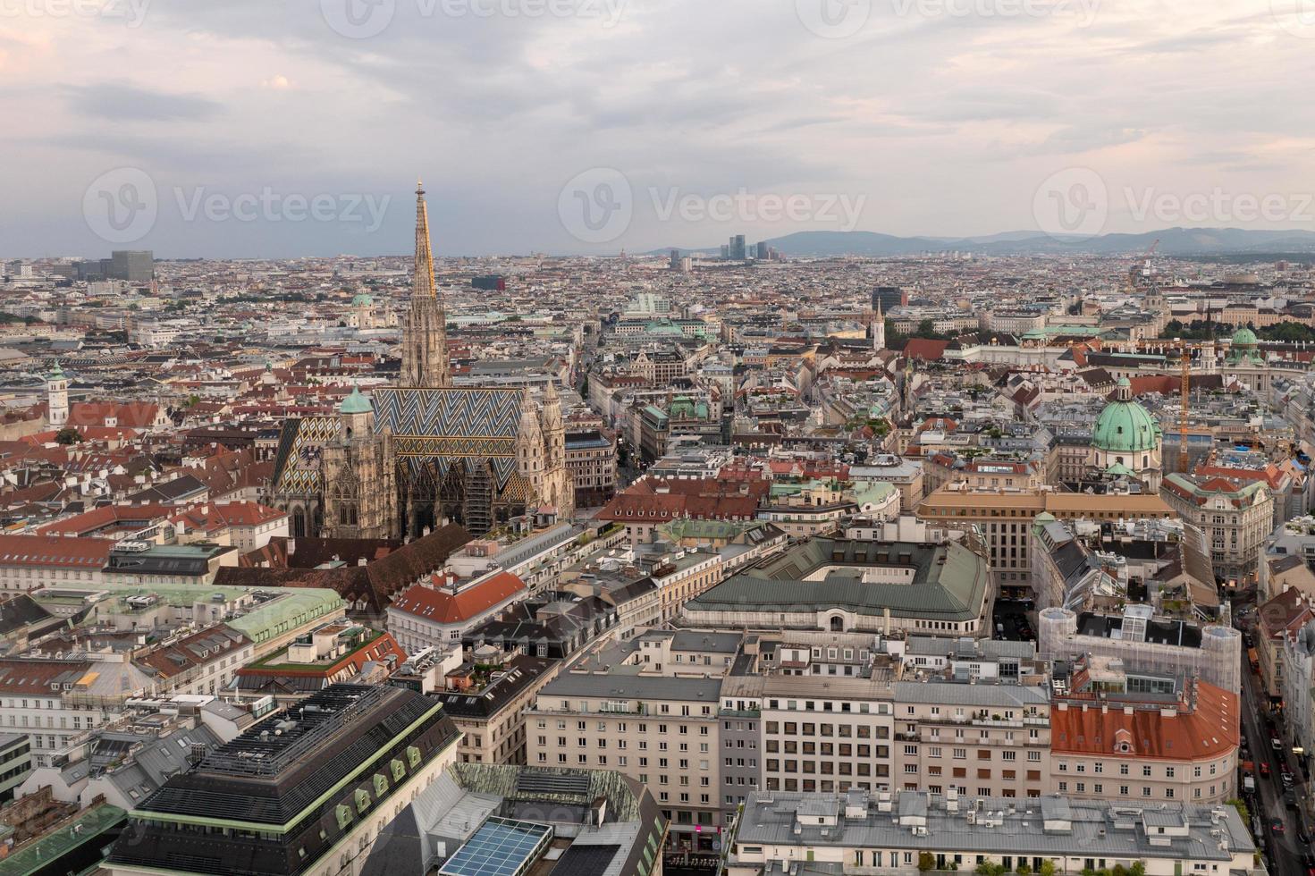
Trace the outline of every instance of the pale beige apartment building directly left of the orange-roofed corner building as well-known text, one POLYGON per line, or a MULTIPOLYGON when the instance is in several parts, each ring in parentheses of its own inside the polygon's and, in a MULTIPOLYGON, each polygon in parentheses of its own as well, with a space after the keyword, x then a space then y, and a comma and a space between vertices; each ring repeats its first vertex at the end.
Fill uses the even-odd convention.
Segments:
POLYGON ((896 783, 960 796, 1049 793, 1049 697, 1043 685, 899 681, 896 783))

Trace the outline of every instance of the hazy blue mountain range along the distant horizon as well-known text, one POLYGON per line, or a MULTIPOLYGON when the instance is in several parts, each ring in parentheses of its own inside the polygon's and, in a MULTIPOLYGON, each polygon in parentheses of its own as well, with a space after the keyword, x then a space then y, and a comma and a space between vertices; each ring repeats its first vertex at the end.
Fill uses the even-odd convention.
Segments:
MULTIPOLYGON (((1243 228, 1169 228, 1143 234, 1102 234, 1094 238, 1052 237, 1040 231, 1005 231, 986 237, 896 237, 874 231, 796 231, 767 241, 785 255, 919 255, 923 253, 980 253, 982 255, 1116 254, 1145 253, 1160 241, 1164 255, 1235 255, 1245 253, 1312 253, 1315 231, 1262 231, 1243 228)), ((669 253, 654 250, 655 255, 669 253)), ((681 249, 681 255, 717 254, 721 247, 681 249)))

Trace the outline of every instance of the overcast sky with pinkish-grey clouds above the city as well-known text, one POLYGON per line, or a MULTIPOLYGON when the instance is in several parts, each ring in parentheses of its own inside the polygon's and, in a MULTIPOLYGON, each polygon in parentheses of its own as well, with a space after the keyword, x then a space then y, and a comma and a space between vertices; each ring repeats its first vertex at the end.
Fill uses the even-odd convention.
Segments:
POLYGON ((0 255, 1315 230, 1312 82, 1315 0, 0 0, 0 255))

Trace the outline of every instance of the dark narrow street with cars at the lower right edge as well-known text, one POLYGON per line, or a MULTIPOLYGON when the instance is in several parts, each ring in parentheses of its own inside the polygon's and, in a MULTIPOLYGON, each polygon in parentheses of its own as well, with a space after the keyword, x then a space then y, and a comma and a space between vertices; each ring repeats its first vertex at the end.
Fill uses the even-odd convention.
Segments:
MULTIPOLYGON (((1258 843, 1268 852, 1266 865, 1276 876, 1307 876, 1307 868, 1302 863, 1302 855, 1310 852, 1310 846, 1303 846, 1298 838, 1298 815, 1283 805, 1283 784, 1279 775, 1286 771, 1294 776, 1301 776, 1295 764, 1289 760, 1287 748, 1281 747, 1274 751, 1270 743, 1270 731, 1266 726, 1268 708, 1264 696, 1258 691, 1258 679, 1251 671, 1245 655, 1243 655, 1243 696, 1241 696, 1241 730, 1251 748, 1249 759, 1256 764, 1256 796, 1248 801, 1253 815, 1260 818, 1260 827, 1264 831, 1258 843), (1269 764, 1270 775, 1261 775, 1261 764, 1269 764), (1283 834, 1274 835, 1270 822, 1281 818, 1283 834)), ((1310 827, 1306 826, 1308 833, 1310 827)))

